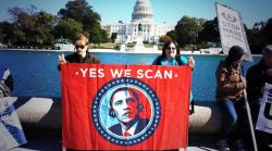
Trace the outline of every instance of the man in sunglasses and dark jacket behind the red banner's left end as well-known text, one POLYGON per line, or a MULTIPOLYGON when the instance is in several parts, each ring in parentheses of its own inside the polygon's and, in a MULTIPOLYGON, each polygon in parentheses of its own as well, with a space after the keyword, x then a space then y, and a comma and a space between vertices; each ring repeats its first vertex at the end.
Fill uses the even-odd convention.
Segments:
POLYGON ((59 55, 59 68, 63 63, 100 63, 99 59, 88 52, 87 43, 88 39, 83 34, 77 35, 74 40, 76 52, 67 56, 59 55))

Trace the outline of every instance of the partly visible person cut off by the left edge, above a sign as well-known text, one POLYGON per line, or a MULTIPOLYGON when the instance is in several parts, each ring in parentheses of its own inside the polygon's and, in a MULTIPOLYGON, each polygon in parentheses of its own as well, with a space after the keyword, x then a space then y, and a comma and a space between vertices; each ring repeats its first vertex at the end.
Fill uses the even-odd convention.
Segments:
POLYGON ((8 67, 4 67, 0 64, 0 98, 11 96, 11 91, 13 90, 13 77, 8 67))

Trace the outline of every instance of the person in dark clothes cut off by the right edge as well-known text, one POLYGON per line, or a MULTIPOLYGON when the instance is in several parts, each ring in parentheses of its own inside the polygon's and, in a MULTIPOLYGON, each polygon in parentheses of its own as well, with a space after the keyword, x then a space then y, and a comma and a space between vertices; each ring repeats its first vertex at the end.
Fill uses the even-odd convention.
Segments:
MULTIPOLYGON (((247 97, 251 109, 254 125, 257 124, 265 83, 272 85, 272 45, 262 49, 261 61, 247 72, 247 97)), ((271 150, 272 134, 256 130, 258 150, 271 150)))

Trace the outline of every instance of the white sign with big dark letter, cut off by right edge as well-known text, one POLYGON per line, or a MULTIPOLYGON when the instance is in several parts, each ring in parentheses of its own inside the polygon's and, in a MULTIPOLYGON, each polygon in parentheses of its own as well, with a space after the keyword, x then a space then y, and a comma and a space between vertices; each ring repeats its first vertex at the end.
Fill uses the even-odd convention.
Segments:
POLYGON ((272 85, 265 84, 256 129, 272 134, 272 85))

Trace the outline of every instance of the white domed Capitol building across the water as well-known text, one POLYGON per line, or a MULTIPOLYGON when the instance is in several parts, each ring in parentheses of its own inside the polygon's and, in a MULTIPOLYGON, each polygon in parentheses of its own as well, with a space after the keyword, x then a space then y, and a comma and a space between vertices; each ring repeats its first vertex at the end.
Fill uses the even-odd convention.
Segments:
POLYGON ((174 29, 174 25, 156 24, 149 0, 137 0, 132 13, 131 23, 102 25, 102 29, 111 36, 116 33, 116 43, 127 42, 158 42, 160 36, 174 29))

